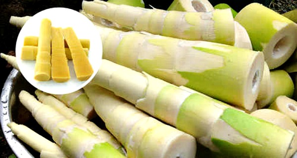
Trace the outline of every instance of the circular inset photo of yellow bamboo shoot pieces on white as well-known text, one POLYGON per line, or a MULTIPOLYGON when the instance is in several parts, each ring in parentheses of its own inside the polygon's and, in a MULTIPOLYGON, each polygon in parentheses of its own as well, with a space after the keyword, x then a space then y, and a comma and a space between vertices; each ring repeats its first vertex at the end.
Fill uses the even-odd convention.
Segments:
MULTIPOLYGON (((46 32, 46 31, 42 31, 42 32, 46 32)), ((51 32, 51 35, 50 35, 51 40, 53 40, 52 34, 53 33, 51 32)), ((46 36, 49 36, 49 35, 46 34, 46 36)), ((45 43, 49 43, 49 41, 45 43)), ((57 42, 57 43, 60 44, 61 42, 57 42)), ((78 50, 81 50, 81 49, 79 48, 78 50)), ((72 9, 56 7, 56 8, 49 8, 35 14, 25 23, 25 25, 22 27, 18 35, 15 52, 16 52, 16 61, 20 69, 20 72, 22 73, 24 78, 28 80, 30 84, 32 84, 37 89, 40 89, 50 94, 67 94, 81 89, 95 77, 102 61, 102 42, 101 42, 101 38, 98 30, 87 17, 85 17, 78 11, 75 11, 72 9), (50 52, 49 53, 42 52, 43 48, 39 48, 39 46, 41 47, 41 45, 45 45, 43 47, 49 46, 50 50, 53 50, 55 47, 54 46, 55 44, 53 43, 53 41, 51 41, 51 45, 38 43, 40 42, 39 40, 40 36, 42 35, 42 37, 45 37, 44 34, 46 34, 46 33, 40 33, 42 21, 44 19, 48 19, 50 21, 51 28, 61 28, 63 30, 62 38, 64 41, 66 41, 64 42, 64 50, 66 52, 65 55, 67 57, 67 60, 60 61, 60 58, 56 57, 56 56, 60 56, 59 53, 56 53, 56 51, 54 54, 52 51, 50 55, 50 52), (64 31, 64 30, 67 30, 66 28, 68 28, 68 31, 64 31), (77 38, 73 38, 73 35, 71 34, 71 31, 69 31, 69 28, 73 30, 72 32, 75 33, 77 38), (67 35, 64 34, 65 32, 67 35), (25 40, 25 38, 29 40, 25 40), (68 42, 67 42, 67 38, 69 39, 68 42), (79 40, 79 43, 81 43, 83 50, 87 55, 87 59, 85 58, 85 60, 83 58, 84 55, 80 54, 81 51, 79 52, 76 51, 77 50, 76 47, 78 43, 77 39, 79 40), (24 40, 25 40, 25 43, 24 43, 24 40), (23 49, 24 44, 26 45, 25 46, 26 49, 23 49), (76 53, 75 55, 73 55, 73 58, 76 58, 75 64, 74 64, 74 60, 71 59, 71 55, 70 55, 70 59, 68 58, 69 53, 73 54, 74 50, 76 53), (25 53, 22 51, 24 51, 25 53), (39 52, 42 52, 43 55, 39 56, 39 60, 38 60, 39 64, 36 64, 36 60, 37 60, 36 58, 39 52), (25 55, 22 53, 24 53, 25 55), (57 80, 55 78, 56 76, 52 78, 51 75, 50 75, 50 79, 46 81, 42 81, 43 77, 41 77, 41 80, 35 77, 36 72, 42 72, 44 71, 44 69, 48 70, 48 67, 49 67, 49 66, 47 67, 47 65, 49 65, 47 64, 49 63, 48 56, 50 56, 50 58, 54 56, 55 57, 54 59, 58 58, 57 60, 54 60, 55 64, 50 65, 52 71, 54 69, 57 71, 63 70, 65 69, 65 67, 59 68, 59 66, 62 65, 62 63, 65 63, 65 62, 68 63, 68 67, 69 67, 68 77, 70 76, 68 80, 62 81, 62 82, 56 81, 57 80), (93 69, 93 74, 89 73, 89 77, 88 76, 85 77, 86 72, 84 72, 84 71, 90 70, 90 66, 89 68, 88 66, 86 66, 88 65, 87 62, 89 62, 89 65, 91 65, 92 67, 91 69, 93 69), (37 68, 35 68, 36 65, 37 65, 37 68), (58 67, 53 65, 58 65, 58 67), (76 74, 76 72, 78 73, 76 74)), ((59 75, 65 76, 62 72, 56 72, 56 73, 50 73, 50 74, 57 74, 58 79, 60 79, 59 75)), ((46 73, 46 75, 48 74, 46 73)))

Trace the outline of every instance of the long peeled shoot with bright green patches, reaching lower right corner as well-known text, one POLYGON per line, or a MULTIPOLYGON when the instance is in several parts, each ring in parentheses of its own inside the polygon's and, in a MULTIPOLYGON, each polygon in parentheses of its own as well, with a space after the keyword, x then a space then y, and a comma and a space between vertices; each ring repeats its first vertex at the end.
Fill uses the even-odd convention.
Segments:
POLYGON ((212 151, 227 156, 284 157, 294 136, 199 92, 107 60, 102 60, 92 84, 113 91, 151 116, 193 135, 212 151))

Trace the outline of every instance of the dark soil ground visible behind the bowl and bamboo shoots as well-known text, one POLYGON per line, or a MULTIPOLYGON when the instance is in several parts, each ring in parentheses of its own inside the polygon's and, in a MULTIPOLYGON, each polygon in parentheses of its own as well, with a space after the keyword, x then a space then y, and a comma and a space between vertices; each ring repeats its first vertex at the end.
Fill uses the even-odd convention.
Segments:
MULTIPOLYGON (((297 8, 297 0, 209 0, 214 6, 218 3, 227 3, 236 11, 240 11, 251 2, 259 2, 279 13, 297 8)), ((144 0, 155 8, 167 9, 172 0, 144 0)), ((34 14, 51 7, 67 7, 79 11, 82 0, 0 0, 0 53, 14 55, 15 43, 20 31, 9 24, 10 16, 33 16, 34 14)), ((0 87, 12 70, 5 60, 0 58, 0 87)), ((14 155, 8 146, 2 131, 0 131, 0 158, 13 158, 14 155)))

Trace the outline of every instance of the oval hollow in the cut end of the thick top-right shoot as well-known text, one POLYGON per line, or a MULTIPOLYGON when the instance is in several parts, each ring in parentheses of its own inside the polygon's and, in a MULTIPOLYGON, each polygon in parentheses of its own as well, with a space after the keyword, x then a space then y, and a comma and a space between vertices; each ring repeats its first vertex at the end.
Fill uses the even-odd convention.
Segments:
POLYGON ((290 44, 292 42, 290 42, 290 38, 285 36, 283 38, 281 38, 280 40, 277 41, 277 43, 275 44, 273 51, 272 51, 272 57, 274 58, 280 58, 283 55, 286 54, 286 52, 288 51, 288 49, 291 47, 290 44))

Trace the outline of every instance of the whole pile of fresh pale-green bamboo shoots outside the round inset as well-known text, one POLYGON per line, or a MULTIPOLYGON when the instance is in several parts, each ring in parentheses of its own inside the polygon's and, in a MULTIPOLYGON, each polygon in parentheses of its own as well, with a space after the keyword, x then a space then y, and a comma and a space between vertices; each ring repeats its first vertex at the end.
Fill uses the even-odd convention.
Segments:
POLYGON ((207 0, 174 0, 168 10, 143 4, 83 0, 103 43, 97 75, 71 94, 19 94, 55 143, 30 139, 37 133, 13 122, 12 131, 44 158, 196 158, 197 143, 219 157, 290 158, 297 24, 258 3, 235 18, 207 0), (107 130, 89 120, 95 112, 107 130))

